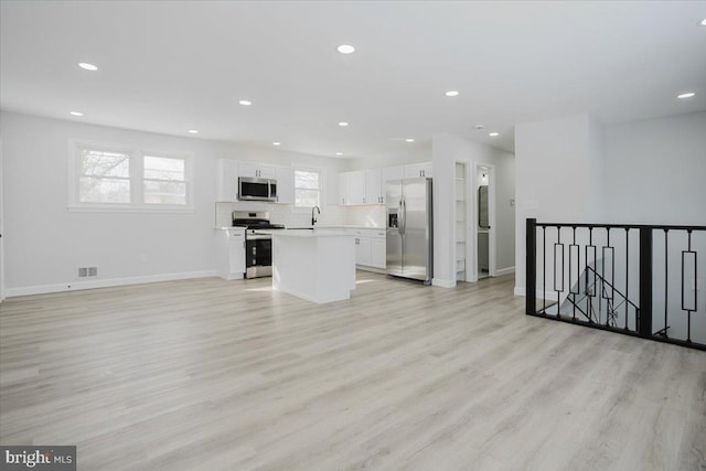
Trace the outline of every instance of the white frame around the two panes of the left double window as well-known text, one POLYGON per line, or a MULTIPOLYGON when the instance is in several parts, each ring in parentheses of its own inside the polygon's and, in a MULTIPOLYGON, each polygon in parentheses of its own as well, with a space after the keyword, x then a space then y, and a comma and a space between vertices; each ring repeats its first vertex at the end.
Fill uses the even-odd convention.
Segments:
POLYGON ((194 212, 194 159, 192 153, 140 150, 131 146, 86 140, 69 140, 68 146, 68 211, 72 212, 138 212, 138 213, 193 213, 194 212), (130 159, 130 203, 87 203, 78 197, 81 180, 81 150, 95 149, 121 152, 130 159), (145 203, 145 157, 163 157, 184 160, 186 204, 145 203))

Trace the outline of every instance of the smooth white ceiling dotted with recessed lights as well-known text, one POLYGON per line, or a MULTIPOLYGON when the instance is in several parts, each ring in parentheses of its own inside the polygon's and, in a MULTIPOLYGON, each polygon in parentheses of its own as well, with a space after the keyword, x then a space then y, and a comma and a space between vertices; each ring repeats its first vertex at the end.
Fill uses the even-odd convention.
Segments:
POLYGON ((329 157, 436 132, 512 150, 520 122, 706 109, 704 19, 706 1, 3 0, 0 106, 329 157))

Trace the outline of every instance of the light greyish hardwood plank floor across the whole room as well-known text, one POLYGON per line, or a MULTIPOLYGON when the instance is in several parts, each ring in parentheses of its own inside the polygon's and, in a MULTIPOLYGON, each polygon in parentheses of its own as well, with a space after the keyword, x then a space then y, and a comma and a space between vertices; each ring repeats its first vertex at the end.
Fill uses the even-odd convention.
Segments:
POLYGON ((512 277, 216 278, 0 304, 0 443, 79 470, 706 470, 706 352, 523 314, 512 277))

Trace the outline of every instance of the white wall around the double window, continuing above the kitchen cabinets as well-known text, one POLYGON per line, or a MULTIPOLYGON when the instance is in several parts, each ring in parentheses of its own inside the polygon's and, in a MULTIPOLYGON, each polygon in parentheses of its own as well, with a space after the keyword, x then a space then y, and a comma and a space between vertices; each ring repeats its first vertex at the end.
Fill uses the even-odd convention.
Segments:
POLYGON ((96 266, 98 280, 113 282, 212 275, 218 158, 324 167, 332 181, 340 168, 335 159, 235 143, 10 113, 0 118, 8 296, 81 287, 79 266, 96 266), (71 139, 193 153, 194 212, 68 212, 71 139))

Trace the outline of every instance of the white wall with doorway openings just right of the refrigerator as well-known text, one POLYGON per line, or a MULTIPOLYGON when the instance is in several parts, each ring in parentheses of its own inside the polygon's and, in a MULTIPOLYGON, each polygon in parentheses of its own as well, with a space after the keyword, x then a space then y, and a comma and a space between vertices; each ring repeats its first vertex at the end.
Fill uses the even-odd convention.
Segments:
MULTIPOLYGON (((456 285, 456 162, 494 167, 495 179, 495 234, 496 268, 514 265, 514 156, 510 152, 471 141, 460 136, 439 133, 432 138, 434 156, 434 278, 439 286, 456 285)), ((477 205, 477 195, 471 194, 469 204, 477 205)), ((472 242, 474 243, 474 242, 472 242)), ((474 266, 475 260, 467 260, 474 266)))

